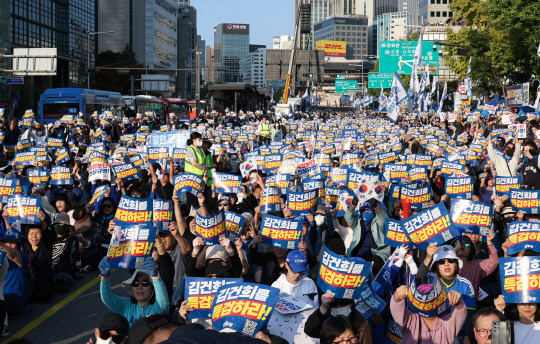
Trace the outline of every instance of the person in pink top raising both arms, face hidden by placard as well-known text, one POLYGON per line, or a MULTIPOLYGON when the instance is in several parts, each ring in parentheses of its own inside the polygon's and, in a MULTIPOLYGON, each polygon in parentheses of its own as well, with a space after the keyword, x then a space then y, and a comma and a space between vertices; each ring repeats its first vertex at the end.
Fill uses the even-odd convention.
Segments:
MULTIPOLYGON (((425 293, 433 288, 432 284, 418 286, 418 290, 425 293)), ((467 311, 461 294, 457 291, 448 292, 448 302, 452 311, 444 315, 431 318, 422 317, 407 308, 409 288, 406 285, 399 287, 390 300, 390 311, 394 321, 401 330, 402 343, 433 343, 452 344, 460 328, 465 323, 467 311)), ((420 305, 421 306, 421 305, 420 305)))

